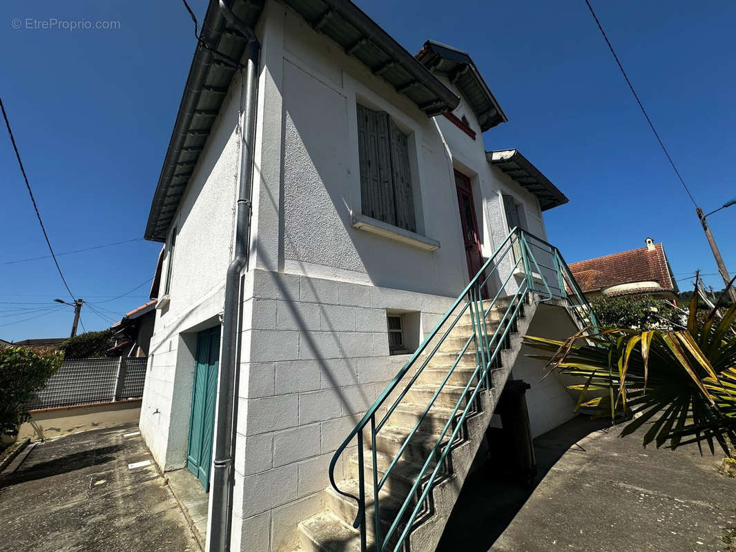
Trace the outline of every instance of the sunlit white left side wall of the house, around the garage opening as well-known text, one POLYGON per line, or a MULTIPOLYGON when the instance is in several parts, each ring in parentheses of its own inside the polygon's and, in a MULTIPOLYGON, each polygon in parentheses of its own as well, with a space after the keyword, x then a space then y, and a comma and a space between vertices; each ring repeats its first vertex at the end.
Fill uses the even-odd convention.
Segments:
MULTIPOLYGON (((218 325, 222 312, 233 244, 240 91, 236 78, 172 222, 177 240, 170 302, 156 311, 140 421, 146 445, 166 470, 185 462, 196 332, 218 325)), ((170 262, 167 254, 159 297, 170 262)))

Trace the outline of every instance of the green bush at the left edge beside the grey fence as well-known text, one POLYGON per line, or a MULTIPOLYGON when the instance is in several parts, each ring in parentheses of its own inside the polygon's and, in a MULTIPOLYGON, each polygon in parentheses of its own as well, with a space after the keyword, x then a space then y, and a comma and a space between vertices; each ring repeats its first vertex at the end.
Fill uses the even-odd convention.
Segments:
POLYGON ((0 434, 18 434, 18 426, 30 417, 26 405, 62 361, 59 351, 0 347, 0 434))

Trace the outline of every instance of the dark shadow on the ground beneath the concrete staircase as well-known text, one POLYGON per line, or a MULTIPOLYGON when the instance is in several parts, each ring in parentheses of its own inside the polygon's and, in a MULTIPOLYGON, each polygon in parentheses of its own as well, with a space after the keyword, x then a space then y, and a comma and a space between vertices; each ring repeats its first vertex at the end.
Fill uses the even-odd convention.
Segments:
POLYGON ((578 416, 534 439, 538 475, 531 489, 486 462, 465 481, 436 552, 455 552, 460 542, 464 552, 489 551, 562 455, 568 450, 585 453, 578 441, 595 431, 606 431, 609 425, 609 420, 578 416), (483 531, 478 531, 481 527, 483 531))

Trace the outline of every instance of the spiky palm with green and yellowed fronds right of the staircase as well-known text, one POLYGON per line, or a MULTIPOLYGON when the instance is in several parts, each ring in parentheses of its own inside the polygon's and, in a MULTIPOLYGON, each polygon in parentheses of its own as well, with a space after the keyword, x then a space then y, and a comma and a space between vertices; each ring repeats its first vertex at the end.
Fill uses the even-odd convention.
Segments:
POLYGON ((586 328, 564 341, 527 336, 526 343, 553 353, 532 355, 547 360, 551 371, 584 379, 570 387, 581 392, 577 408, 631 416, 621 436, 651 422, 644 445, 675 449, 707 442, 713 452, 715 441, 731 456, 726 439, 736 442, 736 306, 721 319, 718 307, 698 316, 693 296, 686 330, 586 328), (586 400, 594 391, 602 396, 586 400))

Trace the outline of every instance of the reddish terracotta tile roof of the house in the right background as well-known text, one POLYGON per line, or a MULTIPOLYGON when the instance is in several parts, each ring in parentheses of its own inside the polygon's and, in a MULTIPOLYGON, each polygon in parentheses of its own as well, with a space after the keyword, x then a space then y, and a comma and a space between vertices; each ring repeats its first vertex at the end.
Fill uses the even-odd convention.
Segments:
POLYGON ((669 264, 662 244, 654 250, 641 247, 637 250, 623 251, 570 264, 570 271, 578 280, 584 293, 618 286, 623 283, 657 282, 659 288, 637 289, 642 291, 676 291, 676 284, 670 275, 669 264))

